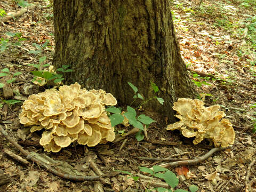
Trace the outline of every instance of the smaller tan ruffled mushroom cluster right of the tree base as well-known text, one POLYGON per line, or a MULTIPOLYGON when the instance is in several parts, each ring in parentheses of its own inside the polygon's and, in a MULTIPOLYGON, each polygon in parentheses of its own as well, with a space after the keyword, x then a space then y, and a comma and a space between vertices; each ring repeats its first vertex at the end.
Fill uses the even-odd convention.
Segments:
POLYGON ((226 114, 219 110, 219 105, 204 107, 201 100, 180 98, 172 108, 180 121, 168 125, 167 130, 177 129, 187 138, 195 137, 195 145, 204 139, 212 139, 216 147, 234 144, 234 129, 228 119, 221 120, 226 114))

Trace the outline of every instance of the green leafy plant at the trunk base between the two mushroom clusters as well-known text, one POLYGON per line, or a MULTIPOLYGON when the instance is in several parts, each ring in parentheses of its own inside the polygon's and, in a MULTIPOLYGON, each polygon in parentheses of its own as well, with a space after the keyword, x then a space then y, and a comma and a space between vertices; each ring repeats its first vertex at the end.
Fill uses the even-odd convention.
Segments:
MULTIPOLYGON (((132 103, 136 100, 136 99, 142 99, 144 100, 144 98, 142 97, 142 95, 140 93, 138 93, 138 88, 136 86, 134 86, 132 83, 128 82, 128 84, 130 85, 130 87, 132 88, 132 90, 134 91, 134 96, 133 96, 133 101, 132 103)), ((158 87, 156 86, 155 83, 150 83, 151 87, 153 87, 154 93, 157 93, 159 91, 158 87)), ((156 99, 159 103, 161 103, 163 105, 164 100, 162 98, 158 98, 158 97, 153 97, 150 98, 144 102, 142 102, 138 107, 136 108, 132 108, 130 106, 127 106, 126 112, 123 114, 128 120, 129 123, 134 126, 137 127, 139 129, 139 132, 135 135, 136 139, 138 141, 141 141, 144 139, 144 127, 143 124, 146 125, 146 127, 148 127, 149 124, 155 122, 153 119, 151 119, 150 117, 146 116, 146 115, 139 115, 137 117, 137 112, 135 109, 138 109, 140 106, 144 105, 145 103, 147 103, 148 101, 152 100, 152 99, 156 99)), ((131 105, 132 105, 131 103, 131 105)), ((111 125, 112 126, 116 126, 118 124, 121 124, 124 121, 124 116, 122 115, 122 110, 121 108, 117 108, 117 107, 109 107, 106 109, 106 111, 108 111, 109 113, 111 113, 112 115, 109 116, 110 121, 111 121, 111 125)))

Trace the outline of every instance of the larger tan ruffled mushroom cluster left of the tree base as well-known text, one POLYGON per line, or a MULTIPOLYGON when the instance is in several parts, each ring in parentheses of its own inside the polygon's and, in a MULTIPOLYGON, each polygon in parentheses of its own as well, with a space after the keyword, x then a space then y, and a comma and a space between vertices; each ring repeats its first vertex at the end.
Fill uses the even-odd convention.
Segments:
POLYGON ((30 131, 45 129, 39 143, 47 152, 60 151, 77 140, 89 147, 115 139, 114 127, 105 106, 117 101, 103 90, 81 89, 78 83, 63 85, 59 91, 46 90, 23 102, 20 123, 30 131))

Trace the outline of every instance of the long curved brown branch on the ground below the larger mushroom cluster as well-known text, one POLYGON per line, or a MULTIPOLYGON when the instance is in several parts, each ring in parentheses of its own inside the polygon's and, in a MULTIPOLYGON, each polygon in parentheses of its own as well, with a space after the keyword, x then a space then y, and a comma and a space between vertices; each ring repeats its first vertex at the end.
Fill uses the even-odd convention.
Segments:
MULTIPOLYGON (((97 181, 97 180, 101 180, 102 177, 99 176, 83 176, 83 175, 73 175, 73 174, 66 174, 66 173, 62 173, 60 171, 57 171, 56 169, 54 169, 50 164, 44 163, 43 161, 41 161, 40 159, 32 156, 27 150, 23 149, 16 141, 14 141, 8 134, 7 132, 4 130, 3 126, 0 125, 0 132, 4 135, 4 137, 9 140, 17 149, 20 150, 20 152, 26 156, 26 158, 29 161, 33 161, 35 163, 37 163, 40 166, 45 167, 45 169, 47 169, 48 171, 50 171, 51 173, 64 178, 64 179, 68 179, 68 180, 73 180, 73 181, 97 181)), ((102 175, 103 176, 103 175, 102 175)))

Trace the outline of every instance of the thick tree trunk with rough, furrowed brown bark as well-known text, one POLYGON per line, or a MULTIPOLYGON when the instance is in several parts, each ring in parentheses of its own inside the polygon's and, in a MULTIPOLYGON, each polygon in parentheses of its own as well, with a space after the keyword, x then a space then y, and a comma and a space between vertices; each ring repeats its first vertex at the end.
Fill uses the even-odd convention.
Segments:
MULTIPOLYGON (((161 91, 147 108, 173 120, 172 105, 194 97, 175 39, 168 0, 54 0, 54 66, 70 65, 70 80, 86 89, 104 89, 121 105, 134 95, 154 97, 150 82, 161 91)), ((70 81, 70 83, 73 83, 70 81)))

